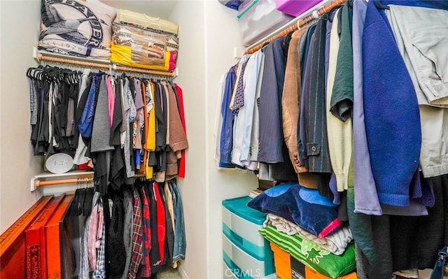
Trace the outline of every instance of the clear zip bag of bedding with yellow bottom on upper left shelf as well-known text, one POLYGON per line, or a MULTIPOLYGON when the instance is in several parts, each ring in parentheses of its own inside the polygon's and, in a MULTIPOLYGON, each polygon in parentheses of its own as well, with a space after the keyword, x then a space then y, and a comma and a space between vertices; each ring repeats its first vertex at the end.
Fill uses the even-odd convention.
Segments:
POLYGON ((117 22, 112 29, 111 62, 160 71, 174 69, 175 57, 167 50, 168 34, 117 22))

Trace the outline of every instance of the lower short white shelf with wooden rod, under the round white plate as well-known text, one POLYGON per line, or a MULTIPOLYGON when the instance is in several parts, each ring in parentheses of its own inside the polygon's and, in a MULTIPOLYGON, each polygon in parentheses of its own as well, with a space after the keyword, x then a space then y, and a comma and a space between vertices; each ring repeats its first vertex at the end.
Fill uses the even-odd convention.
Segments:
POLYGON ((31 178, 31 192, 41 186, 60 185, 67 183, 92 183, 93 171, 69 171, 67 173, 39 173, 31 178))

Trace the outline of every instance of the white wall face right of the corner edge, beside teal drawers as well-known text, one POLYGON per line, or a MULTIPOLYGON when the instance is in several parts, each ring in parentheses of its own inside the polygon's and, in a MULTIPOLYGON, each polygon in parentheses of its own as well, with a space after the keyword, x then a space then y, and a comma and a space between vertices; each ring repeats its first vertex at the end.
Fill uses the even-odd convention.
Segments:
POLYGON ((246 196, 251 189, 258 187, 258 180, 248 173, 235 170, 216 169, 214 162, 214 122, 218 83, 221 75, 236 64, 233 49, 241 49, 237 11, 223 6, 218 1, 205 2, 207 43, 207 83, 206 98, 209 115, 207 120, 207 166, 209 166, 207 187, 209 200, 208 264, 207 278, 223 278, 223 249, 221 201, 236 196, 246 196))

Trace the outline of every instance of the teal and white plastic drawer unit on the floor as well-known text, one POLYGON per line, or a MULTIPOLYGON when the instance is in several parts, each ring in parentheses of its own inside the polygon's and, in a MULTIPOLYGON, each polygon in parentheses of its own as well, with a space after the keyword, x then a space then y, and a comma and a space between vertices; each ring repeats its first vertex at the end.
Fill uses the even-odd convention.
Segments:
POLYGON ((224 278, 261 279, 275 272, 269 242, 258 233, 266 213, 249 208, 249 201, 248 196, 223 201, 224 278))

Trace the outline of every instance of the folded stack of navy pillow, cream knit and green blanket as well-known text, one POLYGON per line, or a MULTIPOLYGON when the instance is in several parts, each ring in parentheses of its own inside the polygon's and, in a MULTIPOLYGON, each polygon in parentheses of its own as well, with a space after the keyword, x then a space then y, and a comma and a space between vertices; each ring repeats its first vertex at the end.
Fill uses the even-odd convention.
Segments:
POLYGON ((339 278, 356 269, 349 225, 318 190, 285 183, 258 194, 248 206, 268 213, 260 234, 316 274, 339 278))

